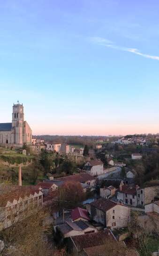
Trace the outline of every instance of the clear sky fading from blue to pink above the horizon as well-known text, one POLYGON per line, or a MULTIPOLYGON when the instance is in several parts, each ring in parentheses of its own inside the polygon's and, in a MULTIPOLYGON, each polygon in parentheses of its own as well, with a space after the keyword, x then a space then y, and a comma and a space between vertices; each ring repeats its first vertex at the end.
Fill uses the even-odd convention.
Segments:
POLYGON ((0 123, 33 134, 159 132, 158 0, 0 0, 0 123))

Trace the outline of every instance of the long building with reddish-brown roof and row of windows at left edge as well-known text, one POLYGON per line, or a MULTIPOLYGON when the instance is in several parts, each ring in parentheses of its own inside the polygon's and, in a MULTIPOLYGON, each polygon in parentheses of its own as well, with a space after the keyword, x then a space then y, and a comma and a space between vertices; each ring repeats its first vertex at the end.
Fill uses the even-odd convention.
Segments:
POLYGON ((43 193, 37 186, 13 186, 0 196, 0 231, 43 207, 43 193))

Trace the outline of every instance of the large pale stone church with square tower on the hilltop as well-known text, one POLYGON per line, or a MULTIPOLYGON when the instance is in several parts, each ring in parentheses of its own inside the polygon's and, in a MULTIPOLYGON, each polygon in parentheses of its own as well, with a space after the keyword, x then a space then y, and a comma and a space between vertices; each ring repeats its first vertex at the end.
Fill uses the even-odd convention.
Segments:
POLYGON ((23 104, 13 105, 12 123, 0 123, 0 145, 8 147, 22 147, 30 145, 32 131, 29 124, 24 121, 23 104))

